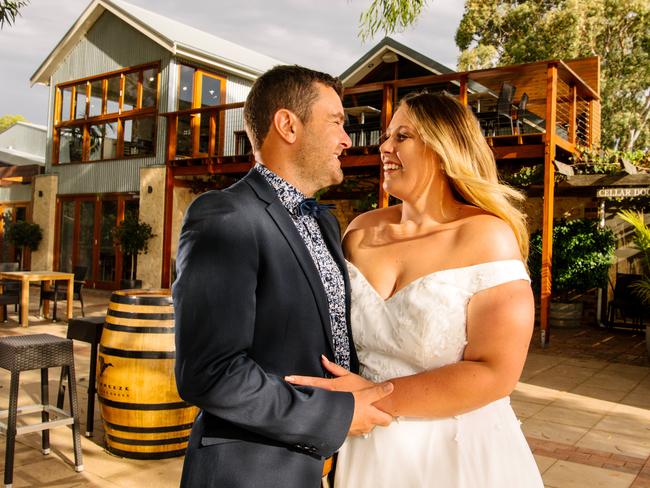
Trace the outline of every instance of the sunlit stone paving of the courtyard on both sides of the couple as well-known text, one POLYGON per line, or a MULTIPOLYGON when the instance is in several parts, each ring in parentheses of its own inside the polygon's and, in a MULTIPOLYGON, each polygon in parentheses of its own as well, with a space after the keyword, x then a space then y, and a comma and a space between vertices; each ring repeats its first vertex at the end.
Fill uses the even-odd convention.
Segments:
MULTIPOLYGON (((35 291, 35 290, 34 290, 35 291)), ((32 293, 36 296, 37 293, 32 293)), ((86 314, 102 315, 110 294, 88 290, 86 314)), ((51 333, 64 336, 65 322, 52 323, 30 308, 30 327, 21 328, 10 308, 0 336, 51 333)), ((75 302, 75 315, 79 314, 75 302)), ((549 488, 650 488, 650 365, 644 337, 633 331, 557 330, 549 347, 531 343, 526 366, 511 396, 512 406, 549 488)), ((85 429, 90 346, 75 342, 75 362, 85 429)), ((19 404, 38 402, 40 375, 21 375, 19 404)), ((58 372, 50 374, 50 392, 58 372)), ((0 408, 6 408, 9 374, 0 372, 0 408)), ((27 423, 38 421, 27 417, 27 423)), ((175 487, 182 458, 139 461, 113 456, 103 448, 99 409, 93 437, 82 437, 85 470, 73 469, 68 428, 50 431, 52 452, 40 453, 40 435, 20 436, 16 444, 14 487, 175 487)), ((4 436, 0 459, 4 467, 4 436)))

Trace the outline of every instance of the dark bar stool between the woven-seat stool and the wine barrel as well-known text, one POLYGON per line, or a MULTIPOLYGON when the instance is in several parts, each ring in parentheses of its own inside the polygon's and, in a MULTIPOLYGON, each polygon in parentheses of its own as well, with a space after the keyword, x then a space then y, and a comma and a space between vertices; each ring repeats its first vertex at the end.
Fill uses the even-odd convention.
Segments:
MULTIPOLYGON (((88 372, 88 405, 86 408, 86 437, 93 435, 93 425, 95 419, 95 393, 97 392, 95 386, 95 376, 97 371, 97 349, 99 341, 102 338, 102 331, 104 330, 104 320, 106 316, 101 317, 84 317, 70 319, 68 321, 68 339, 76 339, 81 342, 90 344, 90 368, 88 372)), ((63 408, 63 397, 65 394, 65 387, 63 379, 65 370, 61 369, 61 380, 59 381, 59 395, 56 401, 58 408, 63 408)))

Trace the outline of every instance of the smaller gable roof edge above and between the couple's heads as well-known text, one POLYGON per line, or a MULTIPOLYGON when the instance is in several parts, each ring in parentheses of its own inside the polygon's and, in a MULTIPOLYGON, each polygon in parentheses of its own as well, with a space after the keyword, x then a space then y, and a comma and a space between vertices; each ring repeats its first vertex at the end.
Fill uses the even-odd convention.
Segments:
POLYGON ((382 57, 388 53, 395 53, 415 64, 431 71, 431 74, 453 73, 454 70, 434 61, 431 58, 397 42, 391 37, 384 37, 370 51, 361 56, 352 66, 346 69, 339 78, 345 86, 352 86, 372 71, 379 63, 384 62, 382 57))

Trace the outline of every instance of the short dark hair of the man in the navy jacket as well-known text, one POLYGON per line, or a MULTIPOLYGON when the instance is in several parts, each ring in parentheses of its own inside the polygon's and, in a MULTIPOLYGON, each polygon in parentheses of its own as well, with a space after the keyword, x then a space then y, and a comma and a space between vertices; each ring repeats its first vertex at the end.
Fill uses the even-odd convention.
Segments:
POLYGON ((254 149, 262 146, 278 110, 290 110, 302 123, 309 121, 318 97, 316 83, 343 96, 341 80, 297 65, 275 66, 255 81, 244 105, 244 121, 254 149))

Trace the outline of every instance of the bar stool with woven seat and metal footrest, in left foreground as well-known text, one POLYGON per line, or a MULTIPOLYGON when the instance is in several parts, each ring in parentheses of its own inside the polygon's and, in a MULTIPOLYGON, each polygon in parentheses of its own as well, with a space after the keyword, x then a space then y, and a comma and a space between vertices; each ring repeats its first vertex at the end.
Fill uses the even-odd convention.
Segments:
POLYGON ((0 368, 11 372, 9 409, 0 411, 0 418, 4 419, 9 417, 7 424, 0 422, 0 430, 7 434, 4 474, 5 488, 11 488, 12 486, 16 436, 29 432, 42 431, 43 454, 49 454, 49 429, 72 424, 75 471, 83 471, 72 341, 51 334, 3 337, 0 339, 0 368), (70 414, 49 404, 48 368, 58 366, 67 370, 70 414), (18 382, 20 372, 33 369, 41 370, 42 404, 18 408, 18 382), (41 412, 41 423, 16 427, 16 419, 19 414, 33 412, 41 412), (59 418, 50 420, 50 413, 58 414, 59 418))

